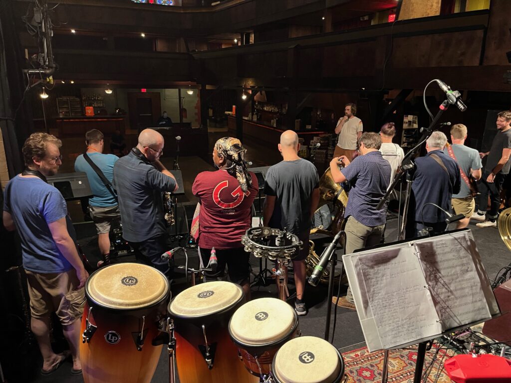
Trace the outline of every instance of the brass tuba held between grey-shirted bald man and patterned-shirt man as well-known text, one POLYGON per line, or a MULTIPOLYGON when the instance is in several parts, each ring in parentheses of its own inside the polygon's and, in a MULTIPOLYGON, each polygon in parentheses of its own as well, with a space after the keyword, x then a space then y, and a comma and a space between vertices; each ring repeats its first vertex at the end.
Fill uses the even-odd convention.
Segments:
MULTIPOLYGON (((340 165, 342 166, 342 164, 340 165)), ((323 173, 321 179, 319 180, 318 209, 329 202, 333 202, 334 207, 337 208, 337 212, 335 213, 335 217, 330 226, 330 230, 326 230, 321 226, 315 227, 314 229, 311 229, 311 234, 327 234, 333 237, 344 227, 344 210, 348 202, 348 195, 345 190, 332 178, 332 171, 330 170, 330 167, 323 173)), ((320 260, 320 257, 314 251, 314 242, 309 241, 309 245, 309 255, 306 259, 308 277, 312 275, 314 268, 318 265, 320 260)), ((321 283, 328 283, 329 272, 330 270, 324 271, 320 279, 321 283)), ((334 276, 334 280, 338 280, 339 277, 340 273, 334 276)))

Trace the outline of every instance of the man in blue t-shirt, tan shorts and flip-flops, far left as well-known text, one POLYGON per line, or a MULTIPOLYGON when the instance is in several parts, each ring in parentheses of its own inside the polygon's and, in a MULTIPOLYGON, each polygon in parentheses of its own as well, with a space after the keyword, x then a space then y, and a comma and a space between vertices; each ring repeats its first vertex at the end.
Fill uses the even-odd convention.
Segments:
POLYGON ((31 328, 42 354, 42 375, 49 375, 68 354, 56 354, 50 342, 50 315, 55 313, 73 356, 71 373, 82 373, 79 355, 80 318, 88 273, 78 255, 73 225, 60 192, 46 183, 57 174, 62 142, 47 133, 34 133, 22 152, 26 169, 5 188, 4 226, 16 230, 30 296, 31 328))

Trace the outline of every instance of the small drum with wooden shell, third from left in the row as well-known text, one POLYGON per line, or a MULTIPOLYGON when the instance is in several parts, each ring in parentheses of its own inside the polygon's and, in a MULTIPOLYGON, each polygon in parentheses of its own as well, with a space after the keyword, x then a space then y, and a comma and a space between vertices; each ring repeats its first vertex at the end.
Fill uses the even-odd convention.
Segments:
POLYGON ((286 302, 260 298, 245 303, 229 322, 229 335, 238 346, 245 368, 253 375, 268 375, 273 355, 298 334, 298 317, 286 302))

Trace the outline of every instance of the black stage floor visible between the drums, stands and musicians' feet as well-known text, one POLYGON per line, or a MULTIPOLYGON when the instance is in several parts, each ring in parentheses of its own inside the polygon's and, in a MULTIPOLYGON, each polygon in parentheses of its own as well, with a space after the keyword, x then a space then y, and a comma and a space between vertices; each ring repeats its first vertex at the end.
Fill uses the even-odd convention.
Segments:
MULTIPOLYGON (((396 226, 397 220, 392 219, 387 224, 386 241, 391 242, 392 238, 396 237, 396 226)), ((510 262, 509 250, 505 247, 504 243, 500 239, 499 231, 496 228, 478 228, 475 223, 471 223, 469 226, 474 234, 478 250, 481 254, 483 265, 490 277, 493 279, 495 274, 500 270, 501 267, 507 266, 510 262)), ((77 231, 79 234, 79 242, 86 249, 86 251, 95 251, 96 239, 94 237, 94 227, 91 224, 77 225, 77 231)), ((176 246, 178 244, 176 243, 176 246)), ((189 250, 189 262, 193 265, 194 262, 198 261, 197 252, 195 250, 189 250)), ((125 258, 129 260, 129 258, 125 258)), ((251 264, 255 273, 259 271, 259 260, 251 259, 251 264)), ((182 254, 176 257, 176 266, 184 265, 184 257, 182 254)), ((272 264, 269 263, 271 269, 272 264)), ((184 279, 184 273, 181 273, 179 278, 176 279, 176 283, 173 285, 172 294, 175 296, 177 293, 186 288, 186 282, 184 279)), ((276 288, 273 280, 268 281, 269 284, 266 286, 253 286, 252 288, 252 299, 260 297, 276 297, 276 288)), ((335 292, 337 288, 335 288, 335 292)), ((346 287, 341 286, 341 295, 345 293, 346 287)), ((294 292, 294 285, 290 286, 290 293, 294 292)), ((309 314, 305 317, 299 317, 299 327, 303 335, 323 337, 324 326, 326 322, 327 313, 327 302, 330 297, 327 296, 327 286, 319 285, 314 288, 307 285, 306 290, 306 302, 309 307, 309 314)), ((290 300, 292 303, 293 300, 290 300)), ((333 323, 333 319, 332 319, 333 323)), ((332 335, 332 331, 330 332, 332 335)), ((355 349, 364 345, 364 337, 360 327, 359 319, 355 311, 338 308, 337 309, 337 320, 335 326, 335 337, 333 344, 337 348, 343 348, 343 351, 355 349)), ((105 361, 105 363, 108 363, 105 361)), ((40 368, 40 363, 38 365, 40 368)), ((71 376, 69 370, 71 364, 62 366, 57 372, 51 376, 41 376, 34 369, 31 382, 37 383, 78 383, 83 381, 82 376, 71 376)), ((153 382, 163 383, 168 382, 168 362, 167 362, 167 350, 166 347, 162 349, 160 360, 153 377, 153 382)))

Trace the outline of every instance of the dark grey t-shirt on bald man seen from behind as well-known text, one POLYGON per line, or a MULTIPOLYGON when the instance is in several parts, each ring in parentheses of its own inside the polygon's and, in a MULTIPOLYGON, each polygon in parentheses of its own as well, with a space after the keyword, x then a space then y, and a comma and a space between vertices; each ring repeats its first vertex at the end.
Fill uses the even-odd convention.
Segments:
POLYGON ((286 228, 293 234, 308 230, 312 191, 317 187, 319 177, 316 167, 303 158, 271 166, 264 185, 264 193, 276 197, 270 227, 286 228))

